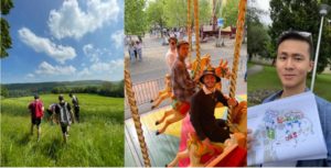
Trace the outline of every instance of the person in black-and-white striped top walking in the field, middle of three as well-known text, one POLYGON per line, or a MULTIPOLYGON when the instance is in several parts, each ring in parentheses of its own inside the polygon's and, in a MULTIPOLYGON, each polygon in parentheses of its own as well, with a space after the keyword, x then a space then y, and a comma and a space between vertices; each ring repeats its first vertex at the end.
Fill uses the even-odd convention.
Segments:
POLYGON ((58 116, 63 141, 67 142, 68 130, 73 122, 71 104, 64 101, 63 94, 58 96, 58 104, 55 107, 55 113, 58 116))

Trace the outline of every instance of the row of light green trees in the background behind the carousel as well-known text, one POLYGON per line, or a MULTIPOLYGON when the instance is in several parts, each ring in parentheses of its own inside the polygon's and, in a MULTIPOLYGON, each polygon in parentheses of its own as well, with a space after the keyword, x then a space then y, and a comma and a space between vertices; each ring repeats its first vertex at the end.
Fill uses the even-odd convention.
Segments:
MULTIPOLYGON (((200 25, 212 23, 213 11, 216 18, 224 19, 224 26, 236 25, 239 0, 215 1, 199 0, 200 25), (213 9, 214 8, 214 9, 213 9)), ((193 27, 193 0, 191 2, 191 26, 193 27)), ((125 34, 143 35, 151 29, 186 27, 186 0, 126 0, 125 34)))

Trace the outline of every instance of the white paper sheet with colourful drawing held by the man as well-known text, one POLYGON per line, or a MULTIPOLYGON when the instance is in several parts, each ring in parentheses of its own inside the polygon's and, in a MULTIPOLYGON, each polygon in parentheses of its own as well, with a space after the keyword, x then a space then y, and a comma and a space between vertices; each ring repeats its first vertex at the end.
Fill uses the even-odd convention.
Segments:
POLYGON ((248 108, 248 128, 255 139, 248 165, 327 157, 311 92, 248 108))

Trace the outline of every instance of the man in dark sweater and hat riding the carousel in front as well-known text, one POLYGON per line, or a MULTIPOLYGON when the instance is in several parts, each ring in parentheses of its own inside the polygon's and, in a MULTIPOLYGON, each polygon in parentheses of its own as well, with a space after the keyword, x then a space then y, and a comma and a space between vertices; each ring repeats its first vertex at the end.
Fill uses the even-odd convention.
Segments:
POLYGON ((211 142, 224 143, 229 138, 229 128, 225 120, 215 117, 215 107, 218 102, 225 107, 236 107, 238 102, 215 89, 221 78, 216 76, 214 68, 207 67, 200 77, 200 82, 203 83, 202 89, 191 100, 191 123, 204 145, 211 146, 211 142))

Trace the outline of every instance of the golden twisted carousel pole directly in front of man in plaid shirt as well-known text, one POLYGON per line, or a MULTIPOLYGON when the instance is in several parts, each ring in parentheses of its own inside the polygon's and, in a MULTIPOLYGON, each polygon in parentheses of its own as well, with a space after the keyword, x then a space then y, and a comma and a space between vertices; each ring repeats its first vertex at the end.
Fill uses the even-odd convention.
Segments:
POLYGON ((197 60, 197 66, 196 69, 194 69, 194 75, 193 78, 199 75, 200 72, 200 26, 199 26, 199 0, 194 0, 194 27, 195 27, 195 51, 196 51, 196 60, 197 60))

